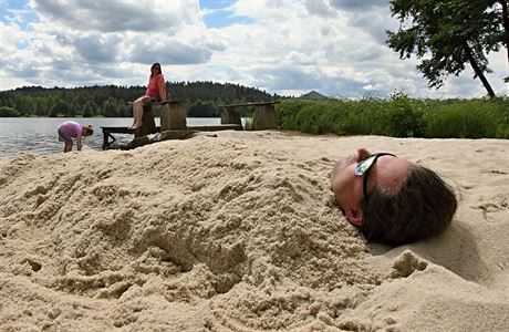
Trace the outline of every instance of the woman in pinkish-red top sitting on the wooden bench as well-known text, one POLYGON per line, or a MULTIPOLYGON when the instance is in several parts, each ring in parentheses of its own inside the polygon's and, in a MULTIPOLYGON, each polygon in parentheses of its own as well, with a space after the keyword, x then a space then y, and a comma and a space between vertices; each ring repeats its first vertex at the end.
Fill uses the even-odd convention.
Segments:
POLYGON ((145 94, 133 103, 134 121, 129 129, 137 129, 142 126, 144 105, 148 105, 150 102, 164 101, 166 101, 165 76, 163 76, 160 64, 156 62, 150 68, 150 76, 148 77, 148 85, 145 94))

